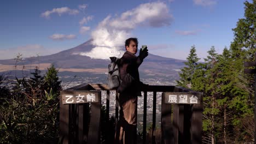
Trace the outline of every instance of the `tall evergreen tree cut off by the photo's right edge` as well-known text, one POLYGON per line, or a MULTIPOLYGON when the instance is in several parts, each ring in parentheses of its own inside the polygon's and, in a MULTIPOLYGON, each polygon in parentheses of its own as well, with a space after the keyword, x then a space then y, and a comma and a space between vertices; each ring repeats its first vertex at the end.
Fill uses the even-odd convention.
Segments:
POLYGON ((248 104, 253 103, 254 99, 254 76, 244 74, 243 63, 245 61, 254 61, 254 53, 256 52, 256 0, 253 3, 246 1, 245 3, 245 17, 239 19, 234 31, 234 41, 230 45, 232 52, 232 58, 234 58, 234 64, 236 73, 240 77, 240 85, 245 91, 248 92, 248 104))

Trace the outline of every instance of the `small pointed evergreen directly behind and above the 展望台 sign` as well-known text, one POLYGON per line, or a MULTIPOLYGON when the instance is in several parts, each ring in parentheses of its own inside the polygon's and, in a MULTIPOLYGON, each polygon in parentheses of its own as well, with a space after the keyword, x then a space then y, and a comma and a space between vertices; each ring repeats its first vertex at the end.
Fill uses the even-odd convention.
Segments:
POLYGON ((178 83, 178 86, 191 88, 191 80, 193 79, 195 70, 198 68, 197 62, 200 60, 200 58, 198 58, 196 55, 195 45, 191 46, 187 60, 188 62, 184 62, 187 67, 181 69, 182 73, 179 73, 180 79, 176 82, 178 83))

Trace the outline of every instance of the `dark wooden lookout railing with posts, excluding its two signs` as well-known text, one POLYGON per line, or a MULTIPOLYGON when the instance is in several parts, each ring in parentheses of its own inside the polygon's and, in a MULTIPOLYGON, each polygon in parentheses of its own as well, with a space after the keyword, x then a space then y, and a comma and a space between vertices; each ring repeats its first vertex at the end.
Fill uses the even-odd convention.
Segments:
MULTIPOLYGON (((87 84, 65 89, 61 92, 106 91, 106 122, 109 127, 110 91, 105 84, 87 84)), ((143 100, 143 143, 146 143, 147 92, 153 92, 152 143, 155 143, 156 92, 194 92, 176 86, 148 86, 142 89, 143 100)), ((115 122, 118 121, 118 93, 115 94, 115 122)), ((166 104, 162 94, 161 103, 161 143, 201 143, 202 142, 202 97, 201 104, 166 104), (172 110, 173 108, 173 110, 172 110)), ((60 142, 61 143, 101 143, 101 95, 97 103, 63 104, 60 97, 60 142), (91 110, 90 110, 91 109, 91 110), (90 119, 89 119, 90 117, 90 119)), ((109 129, 109 128, 107 128, 109 129)), ((104 143, 112 143, 113 138, 106 133, 104 143)))

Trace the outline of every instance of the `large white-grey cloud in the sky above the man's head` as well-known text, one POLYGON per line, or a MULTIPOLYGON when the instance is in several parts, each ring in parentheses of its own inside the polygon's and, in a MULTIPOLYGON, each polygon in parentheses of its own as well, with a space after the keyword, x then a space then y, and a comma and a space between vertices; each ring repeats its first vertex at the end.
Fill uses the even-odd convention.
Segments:
POLYGON ((173 16, 162 2, 141 4, 137 8, 125 11, 120 17, 109 21, 109 25, 116 29, 134 29, 139 25, 151 27, 170 26, 173 16))

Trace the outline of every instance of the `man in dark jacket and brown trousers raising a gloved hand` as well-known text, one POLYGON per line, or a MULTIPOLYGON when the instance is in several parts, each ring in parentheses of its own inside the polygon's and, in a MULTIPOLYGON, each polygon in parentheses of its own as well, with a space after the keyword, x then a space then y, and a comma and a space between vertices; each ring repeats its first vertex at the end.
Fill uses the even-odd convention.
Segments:
POLYGON ((126 52, 120 59, 119 73, 122 80, 118 87, 120 117, 115 134, 116 143, 136 143, 137 132, 137 96, 141 96, 141 87, 145 86, 139 81, 138 67, 143 59, 148 56, 148 50, 138 50, 137 38, 129 38, 125 41, 126 52))

